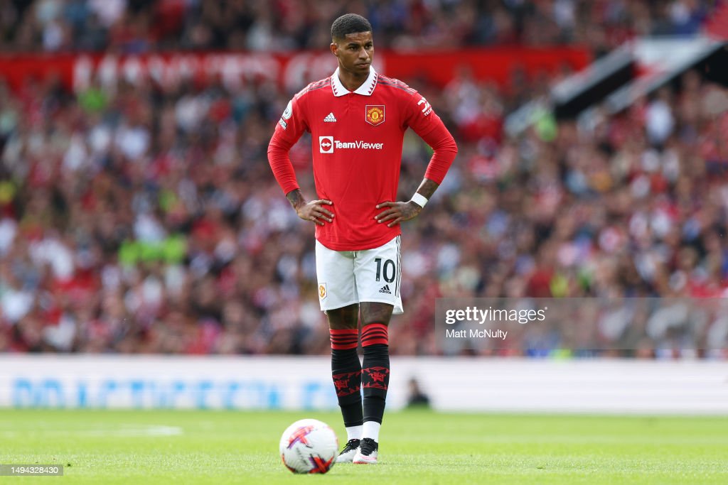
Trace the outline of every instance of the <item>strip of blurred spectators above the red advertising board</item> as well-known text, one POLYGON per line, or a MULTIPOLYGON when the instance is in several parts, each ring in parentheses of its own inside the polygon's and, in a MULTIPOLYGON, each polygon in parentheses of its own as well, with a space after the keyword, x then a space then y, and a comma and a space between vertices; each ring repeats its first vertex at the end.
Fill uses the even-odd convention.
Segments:
POLYGON ((690 35, 718 0, 0 0, 0 44, 16 52, 321 49, 331 22, 371 20, 377 47, 579 44, 690 35))

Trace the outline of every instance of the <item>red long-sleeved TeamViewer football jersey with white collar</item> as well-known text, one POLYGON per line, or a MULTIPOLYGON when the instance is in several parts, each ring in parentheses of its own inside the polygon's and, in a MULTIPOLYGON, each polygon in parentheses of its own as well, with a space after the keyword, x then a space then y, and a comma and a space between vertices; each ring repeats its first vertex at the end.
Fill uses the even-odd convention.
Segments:
MULTIPOLYGON (((335 251, 372 249, 400 234, 400 225, 388 228, 374 216, 384 210, 376 209, 376 204, 397 200, 408 127, 426 140, 433 130, 445 129, 424 97, 373 68, 354 92, 341 84, 336 69, 290 100, 275 128, 269 158, 274 166, 272 151, 288 152, 304 131, 311 133, 318 198, 332 201, 333 206, 324 208, 336 215, 332 223, 316 225, 321 244, 335 251)), ((285 173, 276 168, 284 193, 298 188, 292 167, 284 167, 285 173)), ((441 183, 444 172, 433 175, 428 170, 425 176, 441 183)))

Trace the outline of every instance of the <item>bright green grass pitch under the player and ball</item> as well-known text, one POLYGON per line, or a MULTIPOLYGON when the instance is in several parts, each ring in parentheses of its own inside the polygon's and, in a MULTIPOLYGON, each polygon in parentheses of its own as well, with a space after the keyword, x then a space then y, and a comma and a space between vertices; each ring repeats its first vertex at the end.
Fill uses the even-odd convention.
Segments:
POLYGON ((62 464, 8 484, 727 484, 728 419, 392 412, 379 465, 296 476, 280 433, 337 413, 0 411, 0 463, 62 464))

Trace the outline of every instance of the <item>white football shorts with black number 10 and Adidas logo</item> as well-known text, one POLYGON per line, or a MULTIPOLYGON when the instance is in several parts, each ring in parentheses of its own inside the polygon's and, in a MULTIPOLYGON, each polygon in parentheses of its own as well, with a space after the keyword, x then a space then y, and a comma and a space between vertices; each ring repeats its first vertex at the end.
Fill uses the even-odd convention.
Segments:
POLYGON ((403 313, 400 236, 363 251, 334 251, 316 241, 316 275, 321 310, 380 302, 403 313))

